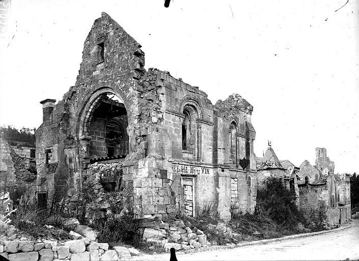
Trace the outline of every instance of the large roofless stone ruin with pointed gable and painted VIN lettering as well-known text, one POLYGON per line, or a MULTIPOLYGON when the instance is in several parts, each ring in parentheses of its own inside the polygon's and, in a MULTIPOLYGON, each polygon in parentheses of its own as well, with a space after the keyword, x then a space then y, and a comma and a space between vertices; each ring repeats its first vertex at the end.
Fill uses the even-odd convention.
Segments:
POLYGON ((102 13, 75 86, 58 103, 41 101, 33 199, 121 191, 137 218, 196 216, 206 205, 224 219, 253 213, 253 107, 238 94, 212 105, 198 87, 144 65, 141 45, 102 13))

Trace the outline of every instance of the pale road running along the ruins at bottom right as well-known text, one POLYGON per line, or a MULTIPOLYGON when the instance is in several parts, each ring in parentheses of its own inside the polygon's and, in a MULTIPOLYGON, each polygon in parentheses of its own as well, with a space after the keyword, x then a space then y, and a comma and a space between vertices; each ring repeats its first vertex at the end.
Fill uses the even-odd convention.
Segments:
MULTIPOLYGON (((359 260, 359 220, 349 228, 319 236, 215 250, 195 254, 178 254, 178 261, 195 260, 359 260)), ((348 225, 343 225, 348 226, 348 225)), ((136 256, 131 260, 170 260, 169 254, 136 256)))

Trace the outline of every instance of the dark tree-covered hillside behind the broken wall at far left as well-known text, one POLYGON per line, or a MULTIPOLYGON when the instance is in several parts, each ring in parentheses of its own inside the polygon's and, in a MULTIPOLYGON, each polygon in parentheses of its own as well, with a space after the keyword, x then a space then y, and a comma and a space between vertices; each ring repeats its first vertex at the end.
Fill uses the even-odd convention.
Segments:
POLYGON ((17 129, 8 125, 7 127, 0 126, 0 133, 1 132, 10 145, 35 147, 35 128, 22 127, 21 129, 17 129))

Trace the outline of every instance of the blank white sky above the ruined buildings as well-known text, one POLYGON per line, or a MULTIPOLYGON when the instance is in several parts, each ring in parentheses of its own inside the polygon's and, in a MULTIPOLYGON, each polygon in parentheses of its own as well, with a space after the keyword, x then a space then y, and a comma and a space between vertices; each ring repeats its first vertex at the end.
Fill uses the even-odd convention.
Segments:
POLYGON ((326 147, 336 172, 358 173, 359 3, 335 12, 345 2, 12 0, 0 38, 0 124, 41 124, 39 101, 61 100, 75 84, 104 11, 142 44, 146 69, 199 86, 213 104, 247 99, 258 156, 271 140, 280 160, 299 166, 326 147))

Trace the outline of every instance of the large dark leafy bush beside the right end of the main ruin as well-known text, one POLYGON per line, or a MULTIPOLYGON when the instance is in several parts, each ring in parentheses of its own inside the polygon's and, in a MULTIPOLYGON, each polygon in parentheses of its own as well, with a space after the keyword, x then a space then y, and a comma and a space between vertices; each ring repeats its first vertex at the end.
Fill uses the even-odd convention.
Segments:
POLYGON ((288 229, 295 229, 299 222, 305 221, 297 208, 294 192, 275 177, 268 177, 266 185, 258 189, 256 213, 288 229))

